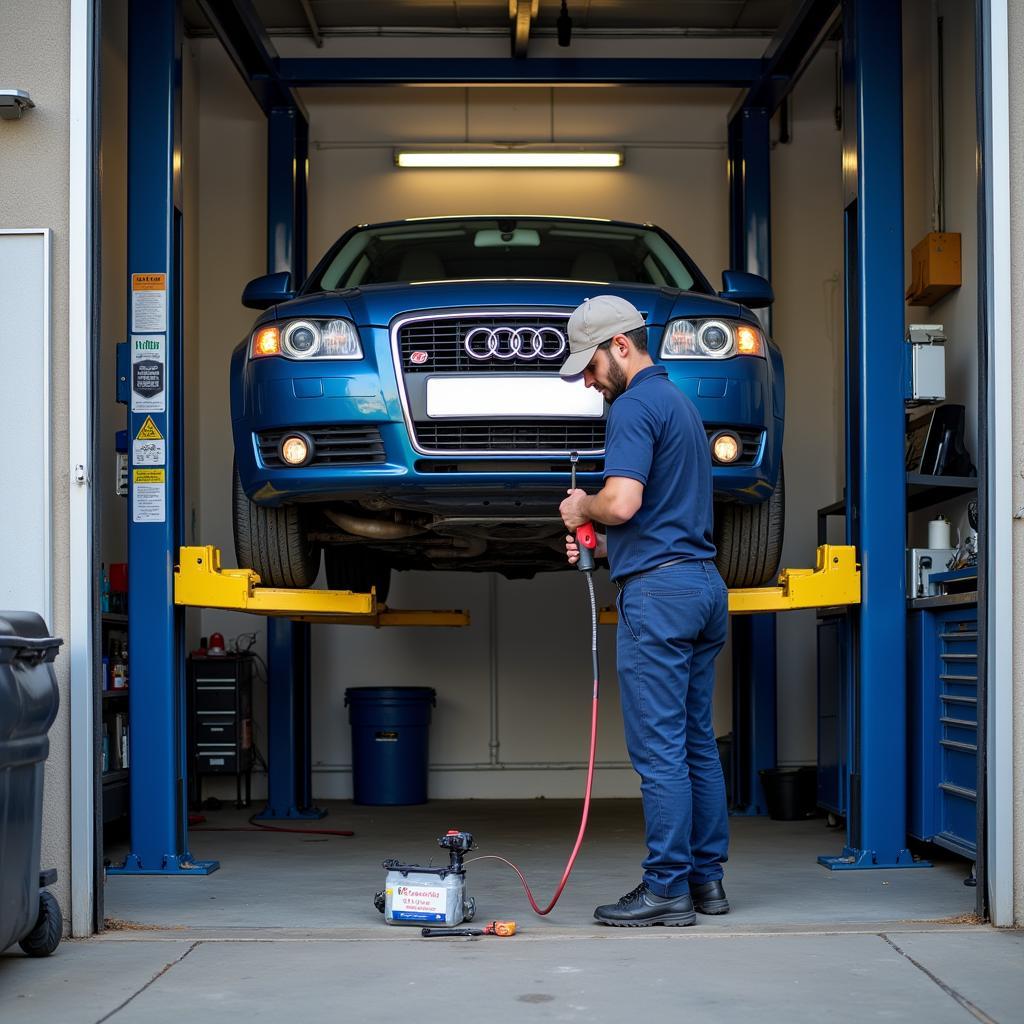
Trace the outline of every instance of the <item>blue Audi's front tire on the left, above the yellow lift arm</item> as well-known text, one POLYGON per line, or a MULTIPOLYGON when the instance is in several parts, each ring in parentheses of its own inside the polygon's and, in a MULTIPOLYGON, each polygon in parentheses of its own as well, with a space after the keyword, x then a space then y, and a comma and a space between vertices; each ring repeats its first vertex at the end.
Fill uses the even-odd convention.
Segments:
POLYGON ((255 569, 266 587, 311 587, 319 572, 321 553, 308 538, 302 510, 296 505, 270 508, 251 502, 238 466, 231 501, 239 565, 255 569))

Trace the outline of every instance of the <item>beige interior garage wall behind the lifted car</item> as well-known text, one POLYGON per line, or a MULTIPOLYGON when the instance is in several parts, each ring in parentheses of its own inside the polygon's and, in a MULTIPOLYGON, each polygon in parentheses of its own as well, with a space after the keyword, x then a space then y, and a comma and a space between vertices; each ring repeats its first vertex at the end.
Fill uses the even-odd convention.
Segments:
MULTIPOLYGON (((204 542, 230 552, 227 358, 252 323, 253 314, 239 305, 238 296, 249 278, 264 270, 265 130, 262 115, 218 44, 196 40, 194 45, 200 66, 201 163, 199 534, 204 542)), ((394 54, 397 45, 392 41, 389 52, 394 54)), ((282 52, 300 49, 291 40, 280 40, 279 46, 282 52)), ((422 54, 422 47, 418 51, 422 54)), ((707 55, 707 49, 701 53, 707 55)), ((828 113, 834 105, 830 69, 829 55, 807 86, 813 101, 808 98, 795 106, 794 145, 776 157, 777 209, 786 221, 776 220, 776 232, 785 240, 787 252, 800 251, 795 258, 777 256, 774 275, 779 295, 795 296, 788 303, 780 301, 775 330, 791 380, 797 382, 791 384, 786 441, 790 502, 797 524, 790 531, 787 551, 797 559, 793 564, 808 563, 814 549, 813 511, 801 510, 831 501, 837 479, 835 401, 841 392, 831 381, 842 254, 839 133, 828 113), (823 98, 817 97, 822 90, 823 98), (808 216, 801 194, 822 181, 825 191, 815 197, 819 206, 808 216), (819 230, 816 222, 827 223, 829 215, 835 226, 819 230), (809 286, 811 273, 814 284, 809 286), (805 304, 808 289, 814 297, 805 304), (819 386, 822 379, 829 382, 824 389, 819 386), (801 381, 815 386, 804 388, 801 381), (806 401, 807 394, 813 394, 813 400, 806 401), (827 467, 824 480, 822 465, 827 467)), ((734 90, 655 88, 307 90, 310 258, 353 223, 441 213, 565 213, 653 220, 679 238, 717 280, 728 259, 725 127, 734 97, 734 90), (618 172, 569 175, 416 173, 392 165, 396 142, 496 138, 624 143, 627 166, 618 172)), ((776 241, 776 252, 782 248, 776 241)), ((602 590, 602 603, 610 603, 606 581, 602 590)), ((417 684, 438 691, 431 732, 431 760, 437 767, 432 794, 575 796, 580 772, 566 762, 579 764, 586 755, 589 692, 587 606, 581 582, 567 573, 516 583, 470 573, 400 573, 391 600, 397 606, 467 607, 473 626, 439 632, 342 627, 313 631, 316 795, 350 793, 344 689, 417 684), (499 692, 498 753, 507 766, 500 771, 484 767, 489 760, 493 673, 499 692), (529 767, 516 770, 515 764, 529 767)), ((208 612, 202 621, 203 633, 217 629, 228 637, 248 631, 262 634, 263 627, 262 621, 241 615, 208 612)), ((260 635, 260 647, 262 640, 260 635)), ((782 632, 780 642, 779 662, 785 667, 780 759, 813 761, 813 635, 809 660, 806 635, 782 632)), ((626 766, 610 630, 602 630, 602 663, 607 682, 600 755, 609 769, 600 773, 598 792, 632 796, 636 776, 626 766)), ((726 655, 720 664, 716 715, 720 733, 729 729, 728 681, 726 655)), ((263 735, 258 728, 258 740, 263 735)))

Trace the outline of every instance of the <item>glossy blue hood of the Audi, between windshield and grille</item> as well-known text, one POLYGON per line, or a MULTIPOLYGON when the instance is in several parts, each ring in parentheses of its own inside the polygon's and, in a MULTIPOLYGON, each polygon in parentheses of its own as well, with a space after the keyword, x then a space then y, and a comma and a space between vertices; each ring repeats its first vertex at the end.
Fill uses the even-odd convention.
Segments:
POLYGON ((629 299, 644 314, 648 325, 663 325, 674 316, 752 317, 746 309, 734 302, 696 292, 649 285, 522 280, 370 285, 316 292, 282 303, 273 315, 282 318, 348 316, 359 327, 386 327, 403 313, 431 309, 541 307, 569 312, 584 299, 607 293, 629 299))

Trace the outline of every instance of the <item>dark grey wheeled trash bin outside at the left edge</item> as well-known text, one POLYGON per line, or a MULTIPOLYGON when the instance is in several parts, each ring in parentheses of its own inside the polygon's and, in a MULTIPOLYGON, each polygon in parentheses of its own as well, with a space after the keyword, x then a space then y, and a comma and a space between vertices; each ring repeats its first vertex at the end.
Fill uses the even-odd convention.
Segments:
POLYGON ((53 659, 63 641, 31 611, 0 611, 0 951, 15 942, 47 956, 60 941, 56 871, 39 867, 43 764, 59 693, 53 659))

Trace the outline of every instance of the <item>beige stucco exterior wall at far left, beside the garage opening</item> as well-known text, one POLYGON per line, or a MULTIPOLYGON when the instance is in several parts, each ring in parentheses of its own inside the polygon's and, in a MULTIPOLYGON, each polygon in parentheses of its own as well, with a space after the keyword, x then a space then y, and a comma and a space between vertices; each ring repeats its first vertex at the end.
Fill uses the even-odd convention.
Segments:
MULTIPOLYGON (((70 20, 62 0, 4 0, 0 69, 5 88, 25 89, 36 103, 19 121, 0 122, 0 226, 48 227, 51 249, 50 481, 53 517, 54 636, 67 637, 69 603, 68 226, 70 20)), ((6 339, 16 344, 18 339, 6 339)), ((0 357, 2 357, 0 351, 0 357)), ((5 439, 4 443, 11 443, 5 439)), ((0 507, 16 502, 16 480, 4 480, 0 507)), ((2 519, 0 519, 2 525, 2 519)), ((42 861, 56 867, 61 907, 70 904, 70 679, 67 654, 55 663, 60 710, 50 729, 43 791, 42 861)), ((82 681, 83 684, 85 680, 82 681)))

